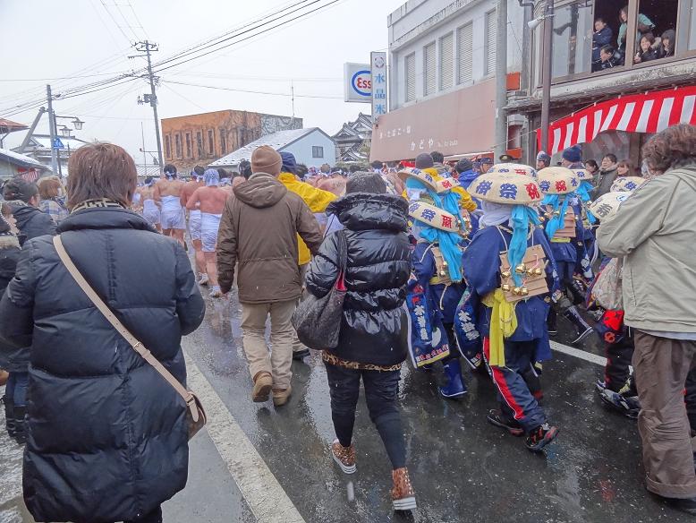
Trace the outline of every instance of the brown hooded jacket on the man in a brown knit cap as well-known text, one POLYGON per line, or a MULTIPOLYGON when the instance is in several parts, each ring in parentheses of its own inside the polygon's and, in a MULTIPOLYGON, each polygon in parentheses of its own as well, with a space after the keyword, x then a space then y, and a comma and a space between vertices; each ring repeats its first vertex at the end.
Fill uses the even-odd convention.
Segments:
POLYGON ((234 187, 225 204, 217 236, 220 288, 232 288, 239 263, 239 301, 265 304, 301 296, 297 236, 311 253, 322 236, 317 219, 301 197, 275 176, 256 173, 234 187))

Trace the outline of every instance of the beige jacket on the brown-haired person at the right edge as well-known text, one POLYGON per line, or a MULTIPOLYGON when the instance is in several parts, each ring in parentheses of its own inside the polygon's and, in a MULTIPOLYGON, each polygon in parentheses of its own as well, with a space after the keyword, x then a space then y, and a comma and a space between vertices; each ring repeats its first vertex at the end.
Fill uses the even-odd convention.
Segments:
POLYGON ((625 256, 626 325, 696 332, 696 164, 641 186, 597 240, 603 253, 625 256))

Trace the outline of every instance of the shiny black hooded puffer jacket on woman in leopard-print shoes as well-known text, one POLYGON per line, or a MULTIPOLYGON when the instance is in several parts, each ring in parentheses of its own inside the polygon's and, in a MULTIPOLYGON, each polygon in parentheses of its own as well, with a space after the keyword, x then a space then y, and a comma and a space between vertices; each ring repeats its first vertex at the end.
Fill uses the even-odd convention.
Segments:
MULTIPOLYGON (((338 347, 331 351, 335 356, 378 365, 405 359, 407 212, 406 201, 389 194, 352 193, 328 206, 327 213, 344 225, 348 244, 348 292, 338 347)), ((306 284, 314 296, 325 296, 338 277, 338 234, 327 236, 310 264, 306 284)))

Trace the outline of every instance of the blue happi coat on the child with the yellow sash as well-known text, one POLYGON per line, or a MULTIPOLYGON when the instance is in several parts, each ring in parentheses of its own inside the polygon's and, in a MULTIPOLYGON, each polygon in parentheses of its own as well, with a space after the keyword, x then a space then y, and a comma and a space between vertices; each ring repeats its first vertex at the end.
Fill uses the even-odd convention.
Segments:
MULTIPOLYGON (((488 337, 491 309, 481 299, 500 288, 500 254, 507 251, 512 237, 512 232, 506 227, 485 227, 480 229, 464 251, 464 276, 471 290, 471 310, 476 316, 477 330, 483 337, 488 337)), ((538 227, 533 228, 527 240, 528 247, 536 244, 541 245, 547 255, 547 286, 553 293, 559 287, 556 262, 545 232, 538 227)), ((517 330, 509 338, 510 341, 537 340, 536 361, 551 357, 546 325, 549 304, 544 297, 532 296, 517 302, 514 308, 517 330)))

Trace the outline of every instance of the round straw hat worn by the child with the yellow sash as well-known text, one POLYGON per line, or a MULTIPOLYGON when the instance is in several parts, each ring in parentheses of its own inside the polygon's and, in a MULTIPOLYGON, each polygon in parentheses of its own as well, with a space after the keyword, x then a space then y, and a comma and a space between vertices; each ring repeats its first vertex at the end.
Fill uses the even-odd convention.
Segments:
POLYGON ((474 198, 508 205, 530 205, 541 201, 543 197, 539 191, 539 185, 533 178, 515 172, 491 173, 488 171, 485 175, 476 178, 469 189, 474 198))

